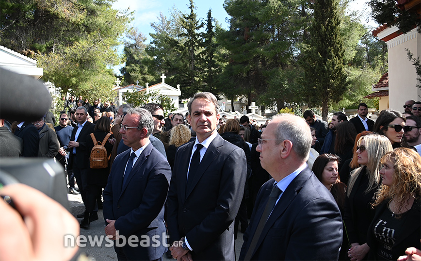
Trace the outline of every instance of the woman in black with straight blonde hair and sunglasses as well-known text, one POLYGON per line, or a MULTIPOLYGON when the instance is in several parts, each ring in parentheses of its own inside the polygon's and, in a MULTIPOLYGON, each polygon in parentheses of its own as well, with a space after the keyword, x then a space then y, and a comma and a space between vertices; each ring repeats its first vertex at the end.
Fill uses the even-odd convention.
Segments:
POLYGON ((357 144, 360 167, 351 173, 343 216, 351 243, 348 251, 351 261, 367 260, 367 231, 374 217, 373 196, 380 185, 380 160, 393 149, 389 139, 379 134, 363 136, 357 144))

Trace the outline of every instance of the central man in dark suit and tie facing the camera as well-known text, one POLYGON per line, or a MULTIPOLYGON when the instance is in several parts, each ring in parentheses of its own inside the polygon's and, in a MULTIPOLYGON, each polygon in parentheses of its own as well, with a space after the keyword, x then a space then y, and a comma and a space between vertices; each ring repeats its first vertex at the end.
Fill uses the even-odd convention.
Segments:
POLYGON ((245 154, 217 133, 213 94, 198 93, 187 106, 197 136, 175 158, 167 215, 171 254, 178 260, 235 260, 233 220, 243 198, 245 154))

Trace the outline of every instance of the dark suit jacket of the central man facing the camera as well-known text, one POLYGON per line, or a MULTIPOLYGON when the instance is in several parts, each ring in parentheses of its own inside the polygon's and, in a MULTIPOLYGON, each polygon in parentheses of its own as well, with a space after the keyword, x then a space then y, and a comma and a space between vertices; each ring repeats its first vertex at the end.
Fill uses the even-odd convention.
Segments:
POLYGON ((243 199, 244 151, 217 134, 186 188, 193 145, 182 145, 176 153, 168 192, 170 242, 186 236, 193 260, 235 260, 233 221, 243 199))

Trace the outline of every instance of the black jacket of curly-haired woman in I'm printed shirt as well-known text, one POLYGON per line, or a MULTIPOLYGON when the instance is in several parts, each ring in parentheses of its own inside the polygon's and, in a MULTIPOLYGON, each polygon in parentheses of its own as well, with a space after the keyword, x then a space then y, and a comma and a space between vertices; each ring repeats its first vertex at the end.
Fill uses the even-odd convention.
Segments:
MULTIPOLYGON (((415 200, 412 205, 411 211, 407 213, 408 216, 403 220, 402 229, 398 232, 398 238, 392 246, 392 260, 397 260, 398 257, 405 255, 405 250, 408 247, 421 248, 420 238, 421 238, 421 201, 415 200)), ((375 249, 376 239, 374 237, 373 228, 376 226, 376 221, 379 216, 384 212, 388 211, 388 202, 382 202, 377 208, 370 225, 370 228, 367 232, 367 245, 370 246, 370 251, 368 254, 368 260, 376 260, 377 258, 377 249, 375 249)))

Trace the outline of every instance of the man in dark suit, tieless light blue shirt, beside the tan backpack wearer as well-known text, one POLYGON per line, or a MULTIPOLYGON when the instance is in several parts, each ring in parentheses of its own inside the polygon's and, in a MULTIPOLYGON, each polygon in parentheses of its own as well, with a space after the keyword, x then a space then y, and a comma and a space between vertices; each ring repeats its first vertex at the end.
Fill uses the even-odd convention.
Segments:
MULTIPOLYGON (((86 139, 88 135, 94 132, 95 124, 87 121, 88 112, 86 108, 81 106, 76 109, 76 120, 78 126, 73 129, 70 137, 69 145, 70 155, 72 156, 73 173, 81 192, 83 204, 86 202, 86 184, 87 175, 89 175, 89 156, 90 151, 86 150, 86 139)), ((90 138, 90 137, 89 137, 90 138)), ((86 206, 85 206, 86 207, 86 206)), ((83 217, 83 215, 78 215, 83 217)), ((95 218, 93 217, 93 220, 95 218)), ((98 219, 96 217, 96 219, 98 219)))

